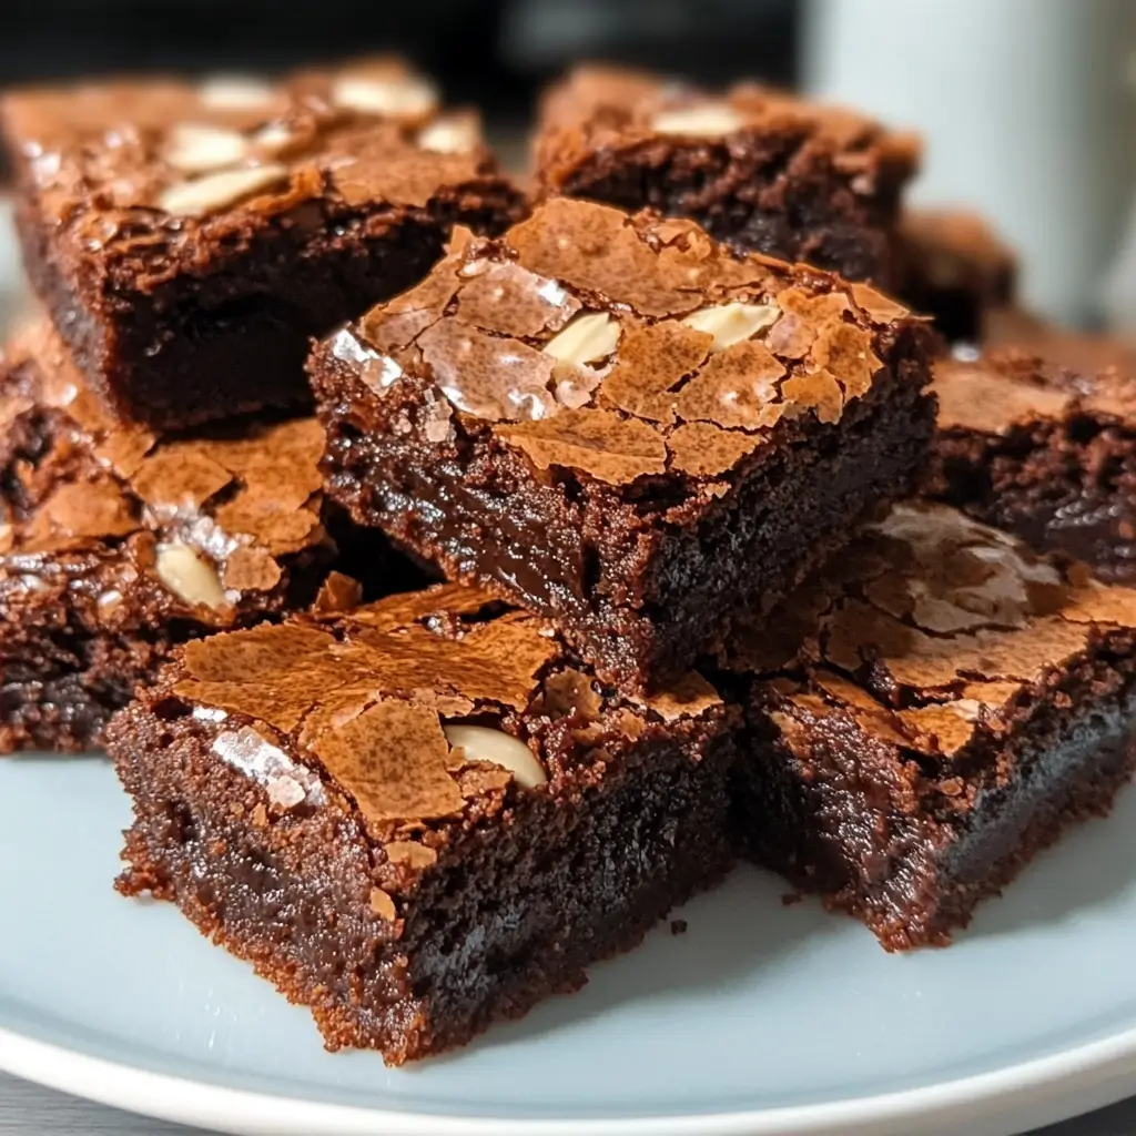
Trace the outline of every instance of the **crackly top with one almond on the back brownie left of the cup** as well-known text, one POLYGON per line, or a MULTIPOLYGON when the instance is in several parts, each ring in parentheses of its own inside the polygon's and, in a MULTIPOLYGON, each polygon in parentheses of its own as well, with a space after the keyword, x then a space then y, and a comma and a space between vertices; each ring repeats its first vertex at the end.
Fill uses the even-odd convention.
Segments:
POLYGON ((805 152, 796 160, 822 152, 863 193, 874 192, 883 161, 913 173, 919 160, 912 135, 888 132, 844 107, 808 102, 755 83, 708 92, 642 72, 584 65, 544 97, 537 177, 554 179, 557 167, 610 148, 659 139, 675 144, 738 141, 747 135, 802 139, 805 152))

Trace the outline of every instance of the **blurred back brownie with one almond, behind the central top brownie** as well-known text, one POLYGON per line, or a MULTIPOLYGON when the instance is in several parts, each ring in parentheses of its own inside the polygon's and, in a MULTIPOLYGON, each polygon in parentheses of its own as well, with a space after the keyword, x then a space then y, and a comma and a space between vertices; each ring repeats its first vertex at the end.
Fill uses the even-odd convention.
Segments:
POLYGON ((917 141, 841 107, 741 83, 707 92, 594 65, 545 95, 538 197, 690 217, 745 251, 895 283, 895 228, 917 141))

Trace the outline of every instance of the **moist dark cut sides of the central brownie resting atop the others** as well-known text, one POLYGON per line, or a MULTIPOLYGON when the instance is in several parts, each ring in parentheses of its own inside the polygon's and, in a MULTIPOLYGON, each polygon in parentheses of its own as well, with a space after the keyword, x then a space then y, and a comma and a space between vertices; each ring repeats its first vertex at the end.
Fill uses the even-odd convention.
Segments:
MULTIPOLYGON (((537 484, 487 434, 470 433, 459 463, 387 429, 414 415, 415 396, 373 399, 327 344, 309 361, 328 434, 324 469, 333 499, 361 525, 377 526, 437 563, 450 578, 496 591, 541 611, 624 690, 655 688, 712 649, 738 603, 769 608, 852 537, 877 504, 910 490, 934 432, 934 401, 903 359, 899 379, 880 376, 835 425, 775 427, 775 444, 741 467, 735 487, 688 529, 643 536, 640 504, 607 494, 591 509, 562 485, 537 484), (374 414, 370 411, 374 410, 374 414), (838 466, 833 468, 833 462, 838 466), (473 487, 470 487, 473 483, 473 487), (524 494, 526 508, 515 507, 524 494), (434 500, 449 502, 440 510, 434 500), (770 538, 778 509, 792 523, 770 538), (628 513, 627 532, 619 518, 628 513), (524 518, 540 517, 534 559, 524 518), (593 532, 586 537, 584 531, 593 532), (496 550, 483 567, 486 533, 496 550), (524 560, 509 550, 525 550, 524 560), (708 551, 712 550, 712 551, 708 551), (754 562, 768 569, 754 574, 754 562), (628 583, 630 582, 630 583, 628 583), (628 592, 638 598, 628 598, 628 592)), ((584 491, 586 494, 586 490, 584 491)))

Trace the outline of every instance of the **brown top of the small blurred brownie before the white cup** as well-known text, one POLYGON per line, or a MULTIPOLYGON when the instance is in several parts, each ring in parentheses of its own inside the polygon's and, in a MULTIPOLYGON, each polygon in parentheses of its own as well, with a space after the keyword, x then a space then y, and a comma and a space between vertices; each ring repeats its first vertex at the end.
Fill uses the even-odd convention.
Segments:
POLYGON ((1003 292, 1012 287, 1018 258, 978 214, 908 210, 900 220, 900 239, 910 272, 928 284, 952 287, 975 282, 1003 292))

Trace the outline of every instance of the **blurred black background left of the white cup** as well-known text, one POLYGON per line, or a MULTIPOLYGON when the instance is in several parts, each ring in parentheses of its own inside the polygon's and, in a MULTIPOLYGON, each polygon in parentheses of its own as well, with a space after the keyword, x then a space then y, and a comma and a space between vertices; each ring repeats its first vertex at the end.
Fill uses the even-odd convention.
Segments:
POLYGON ((582 58, 788 84, 794 0, 0 0, 0 85, 128 70, 283 70, 408 55, 491 124, 582 58))

